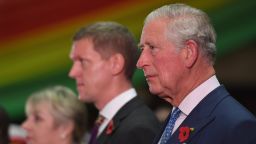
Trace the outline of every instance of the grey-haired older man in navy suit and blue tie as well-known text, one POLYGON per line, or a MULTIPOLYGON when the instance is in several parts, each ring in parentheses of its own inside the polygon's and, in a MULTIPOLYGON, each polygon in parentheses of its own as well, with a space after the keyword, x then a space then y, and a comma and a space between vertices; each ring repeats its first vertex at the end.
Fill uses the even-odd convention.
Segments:
POLYGON ((173 106, 155 144, 256 143, 256 119, 220 85, 216 34, 203 11, 171 4, 151 12, 140 39, 151 93, 173 106))

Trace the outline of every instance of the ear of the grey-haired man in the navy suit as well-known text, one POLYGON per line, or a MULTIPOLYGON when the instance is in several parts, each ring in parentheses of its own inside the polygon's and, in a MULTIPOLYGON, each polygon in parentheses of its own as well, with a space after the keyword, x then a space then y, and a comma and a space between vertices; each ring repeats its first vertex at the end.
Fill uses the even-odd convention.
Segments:
POLYGON ((182 54, 185 66, 191 68, 198 59, 199 46, 194 40, 186 41, 185 48, 182 49, 182 54))

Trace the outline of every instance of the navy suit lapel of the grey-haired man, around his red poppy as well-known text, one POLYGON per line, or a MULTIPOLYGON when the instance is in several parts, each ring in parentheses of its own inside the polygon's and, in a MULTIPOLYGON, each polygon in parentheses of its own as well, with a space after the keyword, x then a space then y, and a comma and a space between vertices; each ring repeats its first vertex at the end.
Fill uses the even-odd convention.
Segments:
POLYGON ((216 105, 218 105, 218 103, 223 99, 227 98, 228 95, 228 92, 223 86, 220 86, 209 93, 181 123, 167 143, 181 143, 179 140, 179 134, 182 127, 193 129, 193 131, 190 131, 188 138, 185 138, 186 140, 183 142, 189 143, 203 128, 207 127, 207 125, 214 121, 215 115, 212 115, 213 110, 216 105))

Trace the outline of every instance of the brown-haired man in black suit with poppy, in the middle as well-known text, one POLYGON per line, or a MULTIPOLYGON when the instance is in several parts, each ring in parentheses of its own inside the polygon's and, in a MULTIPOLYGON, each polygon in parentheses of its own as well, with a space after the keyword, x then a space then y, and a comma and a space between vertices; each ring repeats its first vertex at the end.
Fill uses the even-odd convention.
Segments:
POLYGON ((73 40, 69 76, 76 80, 79 99, 92 102, 100 115, 89 144, 152 143, 159 123, 131 84, 138 49, 129 30, 98 22, 80 29, 73 40))

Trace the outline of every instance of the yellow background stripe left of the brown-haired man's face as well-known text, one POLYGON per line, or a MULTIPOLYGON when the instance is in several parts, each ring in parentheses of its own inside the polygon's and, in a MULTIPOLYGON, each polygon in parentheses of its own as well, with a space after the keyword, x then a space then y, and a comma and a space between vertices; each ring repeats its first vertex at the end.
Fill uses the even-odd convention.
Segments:
POLYGON ((1 59, 0 86, 25 79, 37 78, 47 73, 66 68, 70 61, 68 43, 60 42, 47 46, 38 46, 36 51, 14 54, 11 59, 1 59), (47 47, 47 48, 46 48, 47 47), (51 49, 47 52, 47 49, 51 49))

